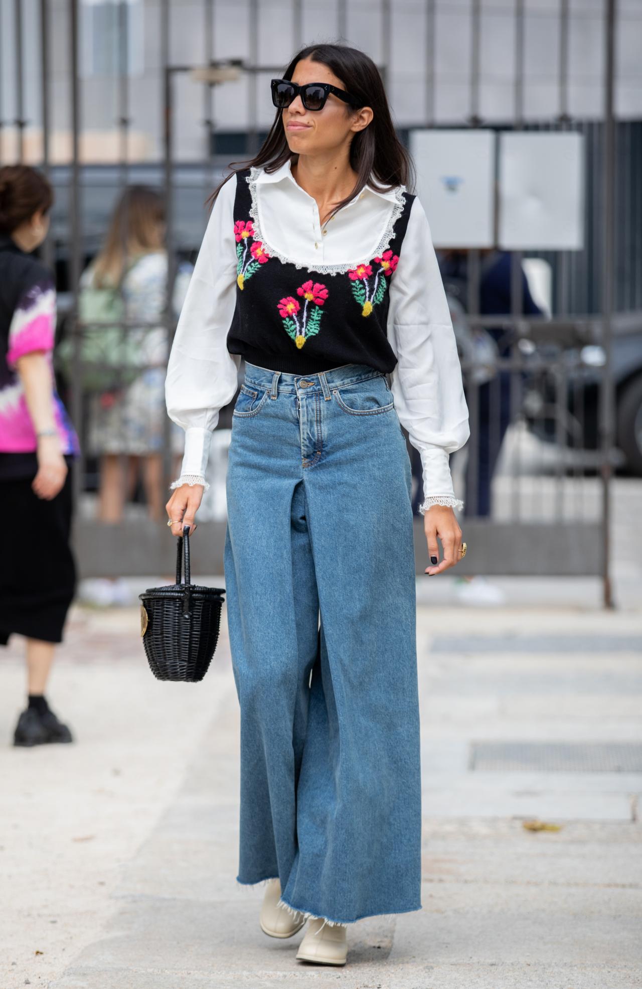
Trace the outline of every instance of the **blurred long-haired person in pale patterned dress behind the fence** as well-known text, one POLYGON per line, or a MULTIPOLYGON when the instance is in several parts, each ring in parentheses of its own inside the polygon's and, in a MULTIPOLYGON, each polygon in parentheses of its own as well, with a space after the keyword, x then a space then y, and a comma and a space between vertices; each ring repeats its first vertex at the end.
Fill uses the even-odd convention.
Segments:
MULTIPOLYGON (((126 332, 140 364, 133 382, 89 397, 86 445, 100 464, 97 517, 101 522, 117 524, 123 519, 126 497, 136 489, 140 470, 148 515, 155 521, 164 518, 162 450, 168 355, 162 322, 167 295, 164 236, 165 208, 160 194, 144 186, 126 189, 113 212, 102 250, 80 279, 81 312, 82 307, 91 310, 92 296, 105 289, 118 293, 120 286, 126 332)), ((178 265, 172 298, 176 315, 191 273, 192 265, 178 265)), ((178 468, 184 432, 172 422, 170 436, 178 468)), ((82 595, 100 604, 130 600, 129 585, 123 579, 83 582, 82 595)))

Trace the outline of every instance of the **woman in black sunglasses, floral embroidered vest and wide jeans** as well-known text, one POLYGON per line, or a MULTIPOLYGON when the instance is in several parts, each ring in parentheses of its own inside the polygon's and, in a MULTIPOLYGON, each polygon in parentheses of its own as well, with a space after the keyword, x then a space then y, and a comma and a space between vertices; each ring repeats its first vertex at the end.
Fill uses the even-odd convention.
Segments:
POLYGON ((430 230, 382 79, 311 45, 271 81, 277 114, 214 208, 165 396, 186 430, 175 536, 208 487, 237 391, 225 576, 240 706, 236 880, 260 925, 342 965, 346 928, 421 909, 412 476, 427 575, 465 552, 448 455, 469 436, 430 230), (389 380, 390 379, 390 380, 389 380), (439 562, 437 537, 443 547, 439 562))

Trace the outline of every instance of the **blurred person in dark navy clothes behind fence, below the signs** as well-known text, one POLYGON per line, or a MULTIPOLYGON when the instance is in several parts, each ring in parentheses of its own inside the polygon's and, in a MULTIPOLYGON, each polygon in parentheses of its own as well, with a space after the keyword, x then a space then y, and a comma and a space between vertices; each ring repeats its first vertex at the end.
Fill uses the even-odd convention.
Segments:
MULTIPOLYGON (((496 248, 486 248, 480 251, 480 315, 510 315, 512 312, 511 290, 511 255, 510 251, 496 248)), ((459 302, 467 308, 468 301, 468 251, 446 250, 440 252, 439 270, 444 280, 446 291, 458 289, 459 302)), ((543 311, 535 303, 528 285, 526 273, 521 271, 521 300, 522 315, 543 315, 543 311)), ((486 332, 495 340, 497 355, 501 359, 511 356, 515 345, 516 334, 510 326, 486 326, 486 332)), ((524 372, 497 370, 496 377, 480 384, 477 388, 478 425, 474 428, 469 440, 468 460, 465 472, 465 492, 468 494, 475 486, 475 499, 465 498, 463 514, 465 517, 490 518, 492 515, 493 478, 500 459, 502 444, 511 413, 516 414, 521 404, 521 385, 524 372), (514 379, 511 385, 511 379, 514 379), (514 389, 515 397, 511 408, 510 392, 514 389), (476 446, 476 457, 471 457, 470 445, 476 446), (476 460, 476 478, 471 478, 474 460, 476 460)), ((464 372, 464 392, 470 408, 474 402, 474 393, 470 387, 469 376, 464 372)), ((420 484, 420 478, 419 478, 420 484)), ((493 584, 485 577, 455 577, 455 585, 459 598, 470 604, 501 604, 505 600, 504 590, 493 584)))

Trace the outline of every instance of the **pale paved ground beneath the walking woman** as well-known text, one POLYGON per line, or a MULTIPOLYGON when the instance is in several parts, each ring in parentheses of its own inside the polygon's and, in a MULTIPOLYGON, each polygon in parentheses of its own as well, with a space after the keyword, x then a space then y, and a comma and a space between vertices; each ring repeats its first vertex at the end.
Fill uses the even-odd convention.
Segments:
MULTIPOLYGON (((303 933, 266 938, 262 890, 234 881, 223 628, 201 684, 159 683, 137 609, 73 609, 51 700, 78 744, 0 747, 2 989, 642 985, 639 610, 419 604, 423 909, 352 926, 339 970, 296 961, 303 933), (476 750, 490 741, 580 748, 476 750)), ((0 663, 7 741, 21 650, 0 663)))

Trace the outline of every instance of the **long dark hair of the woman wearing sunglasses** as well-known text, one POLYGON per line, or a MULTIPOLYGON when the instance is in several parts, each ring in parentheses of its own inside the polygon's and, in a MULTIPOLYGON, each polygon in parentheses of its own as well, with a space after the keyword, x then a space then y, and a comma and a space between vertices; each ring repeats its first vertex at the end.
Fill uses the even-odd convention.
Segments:
MULTIPOLYGON (((411 192, 414 187, 413 160, 397 136, 383 79, 372 58, 349 45, 307 45, 294 55, 281 78, 292 79, 297 62, 303 58, 312 58, 326 65, 347 92, 355 96, 361 106, 371 107, 373 112, 370 124, 357 132, 350 143, 350 165, 358 176, 354 189, 337 204, 331 216, 357 196, 371 176, 375 180, 372 187, 378 192, 388 192, 398 185, 407 186, 411 192)), ((346 114, 351 113, 348 104, 344 106, 346 114)), ((277 109, 258 154, 240 168, 232 169, 208 198, 208 204, 214 206, 219 192, 237 171, 253 165, 264 167, 266 172, 274 172, 292 156, 283 129, 283 112, 277 109)), ((230 163, 230 168, 232 164, 236 162, 230 163)))

